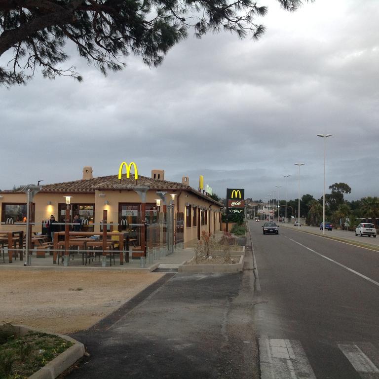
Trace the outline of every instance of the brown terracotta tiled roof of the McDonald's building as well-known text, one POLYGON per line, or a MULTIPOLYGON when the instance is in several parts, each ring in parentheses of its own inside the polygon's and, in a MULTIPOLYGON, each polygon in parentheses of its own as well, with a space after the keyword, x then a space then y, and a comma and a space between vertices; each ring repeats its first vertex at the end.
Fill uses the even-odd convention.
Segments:
POLYGON ((42 186, 41 192, 95 192, 95 189, 109 190, 109 189, 134 189, 136 186, 147 186, 149 189, 155 190, 187 190, 200 196, 217 205, 222 205, 218 201, 213 200, 211 197, 198 192, 197 190, 189 187, 186 184, 177 182, 168 182, 166 180, 158 180, 148 178, 146 176, 138 175, 138 180, 134 180, 134 175, 130 174, 130 178, 122 177, 118 179, 118 175, 100 176, 93 179, 80 179, 73 182, 54 183, 42 186))

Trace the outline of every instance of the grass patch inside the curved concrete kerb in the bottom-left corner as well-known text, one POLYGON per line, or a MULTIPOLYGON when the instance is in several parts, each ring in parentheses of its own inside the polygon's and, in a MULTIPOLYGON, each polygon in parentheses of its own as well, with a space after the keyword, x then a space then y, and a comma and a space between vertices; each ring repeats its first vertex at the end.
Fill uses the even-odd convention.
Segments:
POLYGON ((17 336, 16 327, 0 327, 0 378, 26 379, 74 343, 46 333, 17 336))

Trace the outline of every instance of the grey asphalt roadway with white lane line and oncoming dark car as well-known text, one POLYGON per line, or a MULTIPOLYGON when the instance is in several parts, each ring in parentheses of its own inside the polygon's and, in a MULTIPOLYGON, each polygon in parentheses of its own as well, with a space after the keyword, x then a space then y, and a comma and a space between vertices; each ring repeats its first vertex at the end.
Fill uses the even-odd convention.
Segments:
POLYGON ((379 252, 249 224, 261 378, 379 378, 379 252))

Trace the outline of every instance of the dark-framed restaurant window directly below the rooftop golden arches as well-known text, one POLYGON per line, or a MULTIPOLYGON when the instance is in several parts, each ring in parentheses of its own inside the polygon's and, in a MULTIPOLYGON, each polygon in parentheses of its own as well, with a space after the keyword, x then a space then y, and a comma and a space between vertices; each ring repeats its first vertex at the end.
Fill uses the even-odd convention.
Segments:
POLYGON ((141 205, 135 203, 119 203, 118 205, 118 231, 128 233, 135 245, 140 246, 140 215, 141 205))

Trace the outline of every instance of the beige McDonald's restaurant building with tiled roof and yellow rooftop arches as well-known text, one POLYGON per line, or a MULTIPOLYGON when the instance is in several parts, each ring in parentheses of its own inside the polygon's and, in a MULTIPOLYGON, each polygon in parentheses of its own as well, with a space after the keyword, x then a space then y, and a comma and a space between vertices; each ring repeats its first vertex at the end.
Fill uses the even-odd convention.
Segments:
MULTIPOLYGON (((131 174, 130 166, 126 165, 127 174, 122 174, 121 164, 119 175, 97 178, 92 176, 92 168, 86 166, 80 180, 41 186, 30 206, 30 221, 35 223, 32 231, 43 233, 50 215, 62 223, 60 228, 64 230, 67 207, 70 209, 70 222, 78 214, 82 231, 99 233, 103 228, 104 210, 107 210, 107 229, 130 233, 137 247, 143 238, 141 225, 146 221, 146 241, 152 245, 153 226, 160 223, 167 227, 169 210, 172 227, 168 230, 178 247, 193 246, 202 231, 213 234, 221 230, 223 205, 213 200, 205 190, 191 188, 188 177, 183 177, 182 183, 169 182, 164 179, 163 170, 152 170, 149 178, 139 176, 135 165, 135 173, 131 174), (66 197, 71 197, 69 205, 66 197)), ((26 232, 23 221, 27 215, 27 195, 24 191, 1 191, 0 210, 0 231, 26 232)))

